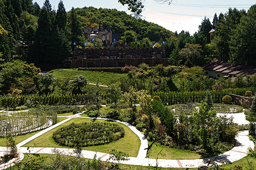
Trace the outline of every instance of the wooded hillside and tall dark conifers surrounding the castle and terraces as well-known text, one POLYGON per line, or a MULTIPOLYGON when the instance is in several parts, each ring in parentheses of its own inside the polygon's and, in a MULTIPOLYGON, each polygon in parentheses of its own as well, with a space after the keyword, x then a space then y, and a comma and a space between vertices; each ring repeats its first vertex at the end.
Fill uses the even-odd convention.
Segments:
POLYGON ((60 64, 72 58, 75 46, 88 41, 83 36, 84 28, 101 23, 102 29, 110 26, 114 34, 119 34, 119 43, 123 45, 124 40, 127 46, 133 43, 133 47, 152 47, 158 42, 166 49, 169 65, 202 66, 215 59, 255 65, 256 5, 248 11, 227 10, 225 14, 215 14, 215 36, 210 37, 213 22, 208 18, 191 35, 186 31, 173 33, 116 9, 82 7, 66 12, 62 1, 55 11, 49 0, 43 7, 31 0, 1 0, 0 63, 15 58, 29 63, 60 64), (210 43, 212 39, 214 43, 210 43))

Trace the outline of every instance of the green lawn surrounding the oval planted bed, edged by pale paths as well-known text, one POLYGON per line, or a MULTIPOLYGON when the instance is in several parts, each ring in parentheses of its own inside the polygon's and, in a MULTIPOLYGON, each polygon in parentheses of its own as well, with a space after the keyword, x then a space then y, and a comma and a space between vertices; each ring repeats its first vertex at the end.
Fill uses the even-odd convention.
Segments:
MULTIPOLYGON (((60 127, 67 126, 68 124, 70 124, 72 122, 82 123, 82 122, 91 122, 92 120, 93 119, 84 119, 84 118, 71 119, 70 121, 63 123, 59 127, 56 127, 55 129, 50 130, 49 132, 41 135, 40 137, 37 137, 33 141, 30 141, 23 147, 32 147, 32 145, 34 145, 34 147, 68 148, 68 147, 61 146, 61 145, 57 144, 53 140, 53 138, 52 138, 53 132, 56 131, 57 129, 59 129, 60 127)), ((106 120, 95 120, 95 122, 104 122, 104 121, 106 121, 106 120)), ((113 122, 113 123, 117 123, 117 122, 113 122)), ((113 141, 109 144, 105 144, 105 145, 84 147, 83 150, 108 153, 108 150, 116 149, 117 151, 122 151, 122 152, 129 154, 129 156, 136 157, 138 155, 139 147, 140 147, 139 137, 136 134, 134 134, 132 132, 132 130, 130 130, 124 124, 122 124, 122 123, 117 123, 117 124, 120 125, 121 127, 124 127, 125 135, 123 138, 121 138, 117 141, 113 141)))

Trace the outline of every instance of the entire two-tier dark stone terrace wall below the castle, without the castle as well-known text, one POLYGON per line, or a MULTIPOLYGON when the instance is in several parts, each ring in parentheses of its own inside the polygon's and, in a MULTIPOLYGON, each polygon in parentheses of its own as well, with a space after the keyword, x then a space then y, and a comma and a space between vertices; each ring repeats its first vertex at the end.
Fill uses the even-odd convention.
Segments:
POLYGON ((143 62, 167 65, 165 48, 75 48, 73 60, 62 61, 62 68, 138 67, 143 62))

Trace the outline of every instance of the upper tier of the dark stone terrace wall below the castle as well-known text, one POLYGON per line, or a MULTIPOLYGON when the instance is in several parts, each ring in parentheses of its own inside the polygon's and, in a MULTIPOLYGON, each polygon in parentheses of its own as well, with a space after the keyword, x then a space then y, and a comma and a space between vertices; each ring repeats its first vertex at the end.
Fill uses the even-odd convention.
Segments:
POLYGON ((73 59, 166 58, 165 48, 75 48, 73 59))

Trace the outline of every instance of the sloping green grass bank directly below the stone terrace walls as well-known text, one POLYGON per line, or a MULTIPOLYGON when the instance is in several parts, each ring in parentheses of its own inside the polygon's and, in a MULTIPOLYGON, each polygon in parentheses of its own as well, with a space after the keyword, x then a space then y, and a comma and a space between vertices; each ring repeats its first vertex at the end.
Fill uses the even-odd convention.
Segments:
POLYGON ((60 78, 69 78, 76 75, 83 75, 88 80, 89 83, 98 83, 104 85, 110 85, 111 83, 116 83, 123 77, 126 77, 126 73, 117 73, 117 72, 94 72, 88 70, 78 70, 78 69, 56 69, 49 72, 55 77, 60 78))

